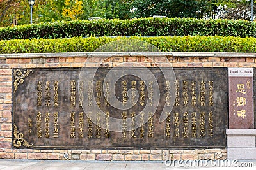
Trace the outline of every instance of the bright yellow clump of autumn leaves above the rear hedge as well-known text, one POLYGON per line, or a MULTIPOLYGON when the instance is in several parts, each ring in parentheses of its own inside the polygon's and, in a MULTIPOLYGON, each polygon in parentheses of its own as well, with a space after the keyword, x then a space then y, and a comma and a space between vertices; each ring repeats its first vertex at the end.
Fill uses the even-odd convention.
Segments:
POLYGON ((83 14, 83 1, 65 0, 65 6, 62 10, 63 17, 74 20, 81 14, 83 14))

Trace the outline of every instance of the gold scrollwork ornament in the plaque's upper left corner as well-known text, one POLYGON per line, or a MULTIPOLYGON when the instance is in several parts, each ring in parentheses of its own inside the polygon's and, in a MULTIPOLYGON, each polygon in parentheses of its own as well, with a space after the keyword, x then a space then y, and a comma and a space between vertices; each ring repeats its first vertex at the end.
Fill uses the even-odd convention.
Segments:
POLYGON ((20 84, 23 84, 24 83, 24 78, 26 78, 26 76, 29 75, 29 73, 34 73, 33 70, 29 69, 29 70, 24 70, 24 71, 21 71, 20 69, 16 69, 13 73, 13 76, 14 76, 14 91, 13 93, 16 92, 16 90, 18 89, 18 86, 20 84))

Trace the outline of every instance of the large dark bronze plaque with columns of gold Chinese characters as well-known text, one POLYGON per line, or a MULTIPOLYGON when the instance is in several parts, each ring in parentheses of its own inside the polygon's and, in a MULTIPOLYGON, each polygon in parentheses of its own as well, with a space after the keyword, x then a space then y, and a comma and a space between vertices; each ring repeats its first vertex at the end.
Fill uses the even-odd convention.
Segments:
POLYGON ((124 73, 115 82, 106 80, 111 69, 99 68, 92 80, 78 68, 13 69, 13 146, 226 147, 227 68, 177 68, 171 81, 161 69, 147 68, 156 80, 143 81, 148 74, 128 73, 145 68, 115 67, 124 73))

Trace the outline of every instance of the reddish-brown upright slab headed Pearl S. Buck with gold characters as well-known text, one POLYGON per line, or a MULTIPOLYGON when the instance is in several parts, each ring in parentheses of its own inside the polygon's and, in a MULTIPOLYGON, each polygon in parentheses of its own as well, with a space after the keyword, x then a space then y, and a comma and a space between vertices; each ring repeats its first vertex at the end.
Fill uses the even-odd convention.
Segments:
POLYGON ((228 76, 229 129, 253 129, 253 69, 229 68, 228 76))

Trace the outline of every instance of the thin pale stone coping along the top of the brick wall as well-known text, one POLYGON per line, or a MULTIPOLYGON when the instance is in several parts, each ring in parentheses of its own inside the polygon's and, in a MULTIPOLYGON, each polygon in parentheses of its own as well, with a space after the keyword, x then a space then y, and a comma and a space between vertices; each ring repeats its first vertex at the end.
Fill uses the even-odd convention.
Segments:
POLYGON ((0 54, 0 59, 51 57, 256 57, 256 53, 230 52, 67 52, 67 53, 14 53, 0 54))

